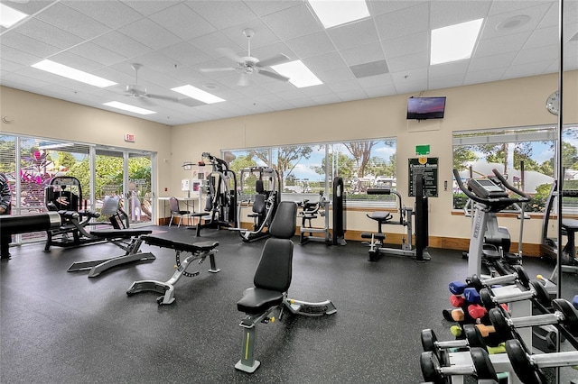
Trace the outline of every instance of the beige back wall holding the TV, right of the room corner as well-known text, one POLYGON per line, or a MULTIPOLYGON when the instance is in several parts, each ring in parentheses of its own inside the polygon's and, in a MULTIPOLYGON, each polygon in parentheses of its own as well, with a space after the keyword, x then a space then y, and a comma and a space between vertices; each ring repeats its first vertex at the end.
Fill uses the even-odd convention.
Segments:
MULTIPOLYGON (((566 74, 564 82, 564 122, 576 123, 578 72, 566 74)), ((470 219, 452 215, 451 188, 443 191, 444 180, 452 185, 452 132, 556 123, 556 116, 545 109, 545 99, 557 84, 557 75, 548 75, 426 92, 424 96, 447 96, 443 120, 406 120, 406 99, 412 95, 400 95, 174 126, 172 162, 176 166, 200 160, 203 151, 219 155, 221 149, 396 137, 397 188, 406 197, 407 159, 415 157, 415 145, 430 144, 430 156, 440 164, 439 197, 429 199, 430 235, 468 239, 470 219)), ((172 180, 173 188, 180 179, 172 180)), ((404 204, 414 202, 406 197, 404 204)), ((500 218, 499 223, 509 228, 516 242, 517 220, 500 218)), ((364 212, 350 211, 348 229, 374 230, 375 224, 364 212)), ((387 231, 394 232, 389 227, 387 231)), ((539 243, 540 236, 540 220, 525 224, 524 242, 539 243)))

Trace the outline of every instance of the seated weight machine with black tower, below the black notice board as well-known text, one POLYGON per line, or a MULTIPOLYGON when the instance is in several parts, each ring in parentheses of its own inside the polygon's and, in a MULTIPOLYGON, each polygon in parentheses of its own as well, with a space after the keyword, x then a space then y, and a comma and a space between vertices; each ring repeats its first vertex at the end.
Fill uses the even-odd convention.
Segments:
POLYGON ((424 189, 424 176, 415 177, 415 211, 411 207, 403 206, 399 192, 391 188, 369 188, 368 195, 395 195, 398 200, 399 218, 394 220, 394 216, 389 212, 373 212, 367 215, 368 218, 378 222, 378 233, 361 233, 362 239, 370 239, 369 261, 378 261, 384 254, 409 256, 415 261, 423 262, 432 259, 427 246, 429 244, 428 234, 428 207, 427 194, 424 189), (415 217, 415 247, 413 245, 413 221, 415 217), (402 239, 401 248, 387 248, 384 246, 386 233, 382 231, 383 224, 402 225, 406 227, 406 237, 402 239))

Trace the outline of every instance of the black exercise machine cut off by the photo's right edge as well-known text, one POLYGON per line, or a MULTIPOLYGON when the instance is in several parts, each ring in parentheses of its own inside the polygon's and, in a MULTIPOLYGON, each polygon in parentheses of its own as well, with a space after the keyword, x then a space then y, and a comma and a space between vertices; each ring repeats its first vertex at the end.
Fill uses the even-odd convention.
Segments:
MULTIPOLYGON (((560 263, 560 270, 563 272, 578 273, 578 257, 576 257, 576 248, 574 244, 576 237, 575 233, 578 232, 578 220, 562 218, 560 231, 567 237, 567 242, 564 245, 560 258, 557 257, 557 239, 548 237, 548 225, 550 224, 550 215, 552 215, 552 210, 555 206, 555 197, 578 197, 578 190, 576 189, 563 189, 562 194, 556 193, 558 188, 557 185, 558 183, 556 181, 552 183, 550 194, 545 202, 544 218, 542 219, 542 244, 540 245, 540 250, 545 257, 555 260, 556 263, 560 263)), ((562 213, 559 213, 559 215, 562 215, 562 213)), ((552 272, 552 276, 550 277, 550 281, 555 281, 557 270, 556 265, 552 272)))

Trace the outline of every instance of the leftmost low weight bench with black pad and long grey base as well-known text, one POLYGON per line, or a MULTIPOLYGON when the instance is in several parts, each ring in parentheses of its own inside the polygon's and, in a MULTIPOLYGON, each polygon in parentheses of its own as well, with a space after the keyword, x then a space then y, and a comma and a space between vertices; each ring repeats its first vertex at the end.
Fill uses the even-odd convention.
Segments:
POLYGON ((68 269, 69 272, 79 270, 90 270, 89 278, 96 278, 105 270, 109 270, 117 265, 126 264, 133 261, 153 261, 154 254, 151 252, 141 252, 142 237, 145 234, 153 233, 149 229, 98 229, 90 231, 90 236, 101 241, 112 242, 121 249, 125 254, 109 259, 100 259, 93 261, 77 261, 68 269))

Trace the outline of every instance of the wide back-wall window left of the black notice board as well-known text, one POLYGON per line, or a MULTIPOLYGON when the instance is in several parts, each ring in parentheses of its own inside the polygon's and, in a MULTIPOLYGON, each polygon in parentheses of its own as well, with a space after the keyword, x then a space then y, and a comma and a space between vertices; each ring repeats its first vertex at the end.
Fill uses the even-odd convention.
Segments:
POLYGON ((284 194, 331 193, 332 180, 343 178, 348 200, 367 200, 368 187, 396 187, 396 140, 327 142, 270 148, 223 150, 230 169, 269 166, 279 172, 284 194))

